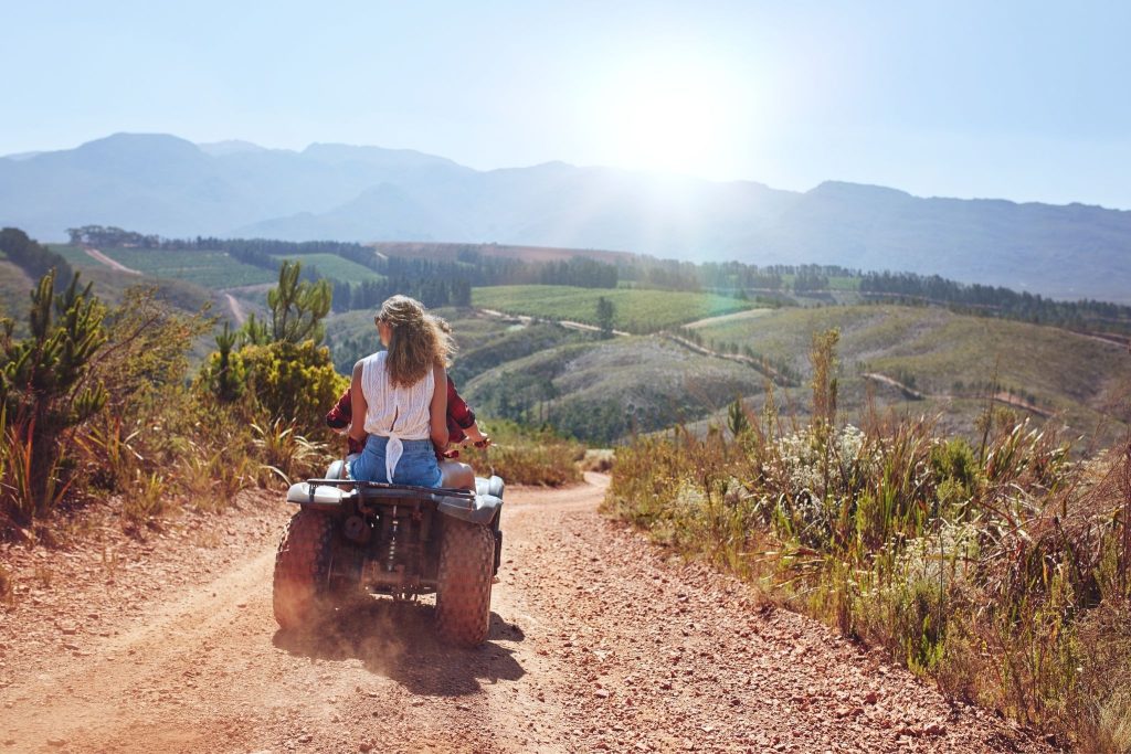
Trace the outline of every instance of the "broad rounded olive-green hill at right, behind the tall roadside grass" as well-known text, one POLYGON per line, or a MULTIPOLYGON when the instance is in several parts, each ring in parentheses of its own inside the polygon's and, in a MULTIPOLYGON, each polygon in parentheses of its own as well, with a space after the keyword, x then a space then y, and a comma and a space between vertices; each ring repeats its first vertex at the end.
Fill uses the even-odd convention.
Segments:
MULTIPOLYGON (((864 399, 864 374, 879 373, 924 393, 909 405, 939 407, 955 417, 979 410, 990 383, 1043 414, 1091 433, 1104 415, 1131 421, 1131 355, 1117 345, 1059 328, 955 314, 938 307, 843 306, 789 309, 696 328, 707 345, 750 346, 808 374, 813 332, 840 329, 843 406, 864 399)), ((891 387, 875 395, 905 402, 891 387)), ((1039 414, 1038 414, 1039 416, 1039 414)), ((1112 428, 1110 427, 1108 431, 1112 428)))

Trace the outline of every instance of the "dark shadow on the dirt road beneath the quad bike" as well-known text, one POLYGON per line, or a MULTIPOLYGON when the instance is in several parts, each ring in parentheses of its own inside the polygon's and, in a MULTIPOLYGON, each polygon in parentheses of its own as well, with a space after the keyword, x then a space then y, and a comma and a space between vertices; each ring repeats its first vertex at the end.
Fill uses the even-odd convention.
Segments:
POLYGON ((451 647, 437 634, 434 607, 374 599, 343 608, 317 629, 275 633, 273 643, 299 657, 361 660, 371 673, 414 694, 461 696, 481 684, 526 675, 513 653, 497 642, 523 641, 521 629, 491 614, 487 641, 475 649, 451 647))

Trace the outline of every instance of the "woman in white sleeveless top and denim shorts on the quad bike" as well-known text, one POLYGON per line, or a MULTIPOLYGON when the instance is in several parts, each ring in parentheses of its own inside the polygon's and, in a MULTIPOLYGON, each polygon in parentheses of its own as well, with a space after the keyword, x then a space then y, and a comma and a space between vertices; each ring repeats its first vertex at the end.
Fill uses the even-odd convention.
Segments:
POLYGON ((437 453, 448 447, 444 366, 451 339, 408 296, 388 298, 374 321, 387 350, 354 364, 349 436, 365 445, 349 465, 351 476, 421 487, 473 486, 470 467, 459 463, 464 468, 446 477, 437 463, 437 453))

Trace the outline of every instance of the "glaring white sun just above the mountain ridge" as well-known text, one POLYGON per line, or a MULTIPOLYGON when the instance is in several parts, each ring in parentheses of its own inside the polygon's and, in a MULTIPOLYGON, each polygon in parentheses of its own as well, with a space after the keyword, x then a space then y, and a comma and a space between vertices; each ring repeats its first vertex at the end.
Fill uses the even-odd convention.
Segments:
POLYGON ((610 162, 637 170, 708 175, 725 170, 741 137, 745 97, 722 70, 634 67, 607 84, 601 104, 610 162))

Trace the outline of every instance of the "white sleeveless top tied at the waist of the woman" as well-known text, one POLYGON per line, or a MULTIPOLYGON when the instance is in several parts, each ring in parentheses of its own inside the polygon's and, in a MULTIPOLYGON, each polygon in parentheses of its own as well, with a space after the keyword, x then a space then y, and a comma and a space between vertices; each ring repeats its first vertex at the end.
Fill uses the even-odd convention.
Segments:
POLYGON ((404 451, 402 440, 428 440, 432 434, 432 392, 435 374, 430 369, 424 379, 409 387, 394 387, 385 365, 388 352, 380 350, 362 362, 361 389, 365 396, 365 432, 389 439, 385 450, 388 478, 404 451))

